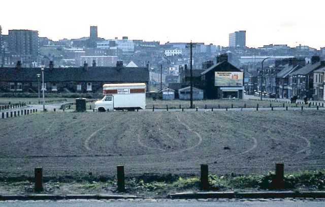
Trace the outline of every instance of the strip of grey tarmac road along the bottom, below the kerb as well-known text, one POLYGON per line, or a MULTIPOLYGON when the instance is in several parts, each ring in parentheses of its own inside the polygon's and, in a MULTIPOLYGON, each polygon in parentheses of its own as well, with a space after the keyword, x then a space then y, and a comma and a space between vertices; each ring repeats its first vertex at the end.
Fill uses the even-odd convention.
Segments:
POLYGON ((128 207, 128 206, 184 206, 184 207, 198 207, 198 206, 264 206, 264 207, 321 207, 325 206, 325 201, 309 200, 309 199, 250 199, 250 200, 232 200, 232 199, 199 199, 199 200, 156 200, 156 199, 143 199, 143 200, 59 200, 59 201, 0 201, 0 206, 13 207, 13 206, 25 206, 25 207, 41 207, 41 206, 116 206, 116 207, 128 207))

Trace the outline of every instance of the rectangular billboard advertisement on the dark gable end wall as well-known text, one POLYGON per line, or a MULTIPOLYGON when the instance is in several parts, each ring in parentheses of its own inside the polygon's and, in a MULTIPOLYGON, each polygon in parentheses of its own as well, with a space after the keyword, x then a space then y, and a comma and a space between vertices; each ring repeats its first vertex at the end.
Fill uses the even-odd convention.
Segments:
POLYGON ((243 86, 243 72, 215 72, 215 86, 243 86))

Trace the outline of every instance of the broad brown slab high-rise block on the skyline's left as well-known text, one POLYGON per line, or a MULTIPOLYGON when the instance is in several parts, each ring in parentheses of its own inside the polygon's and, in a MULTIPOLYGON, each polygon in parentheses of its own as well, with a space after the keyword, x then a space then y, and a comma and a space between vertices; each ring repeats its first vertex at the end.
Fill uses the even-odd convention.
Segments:
POLYGON ((9 51, 18 55, 40 53, 39 32, 26 29, 9 30, 9 51))

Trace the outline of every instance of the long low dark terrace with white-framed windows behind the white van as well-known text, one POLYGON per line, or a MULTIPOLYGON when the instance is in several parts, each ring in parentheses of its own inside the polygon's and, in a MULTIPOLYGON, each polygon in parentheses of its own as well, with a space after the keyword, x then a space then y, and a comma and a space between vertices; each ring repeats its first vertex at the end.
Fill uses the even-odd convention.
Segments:
MULTIPOLYGON (((42 74, 40 68, 0 68, 0 91, 14 93, 37 93, 42 74)), ((102 92, 104 83, 149 84, 148 67, 127 68, 118 61, 116 67, 54 68, 50 65, 44 70, 44 90, 47 93, 93 93, 102 92)))

